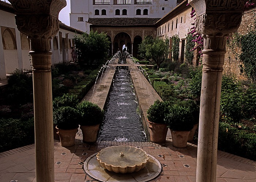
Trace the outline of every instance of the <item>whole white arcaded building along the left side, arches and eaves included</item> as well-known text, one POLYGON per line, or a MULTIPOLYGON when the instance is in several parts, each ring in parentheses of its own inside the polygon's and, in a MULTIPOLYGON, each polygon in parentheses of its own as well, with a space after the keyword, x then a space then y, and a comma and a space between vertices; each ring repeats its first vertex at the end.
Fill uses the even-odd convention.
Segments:
MULTIPOLYGON (((15 69, 31 69, 30 40, 20 33, 15 24, 14 9, 11 4, 0 1, 0 80, 15 69)), ((71 61, 72 38, 81 31, 60 23, 59 32, 52 37, 52 64, 71 61)))

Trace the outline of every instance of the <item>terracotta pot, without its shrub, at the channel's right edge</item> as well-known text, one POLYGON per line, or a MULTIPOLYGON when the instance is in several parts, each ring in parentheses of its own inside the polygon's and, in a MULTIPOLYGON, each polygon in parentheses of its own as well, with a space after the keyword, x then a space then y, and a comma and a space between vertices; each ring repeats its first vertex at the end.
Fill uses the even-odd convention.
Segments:
POLYGON ((148 121, 148 123, 150 129, 150 141, 154 143, 165 143, 168 126, 166 124, 158 124, 150 121, 148 121))

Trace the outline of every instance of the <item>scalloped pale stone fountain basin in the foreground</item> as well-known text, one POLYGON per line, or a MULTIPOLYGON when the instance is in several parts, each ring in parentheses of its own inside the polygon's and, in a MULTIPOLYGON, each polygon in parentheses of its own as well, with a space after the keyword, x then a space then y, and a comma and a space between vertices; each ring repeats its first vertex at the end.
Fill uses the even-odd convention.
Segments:
POLYGON ((130 173, 144 168, 149 158, 140 148, 119 145, 103 148, 98 152, 97 160, 108 171, 130 173))

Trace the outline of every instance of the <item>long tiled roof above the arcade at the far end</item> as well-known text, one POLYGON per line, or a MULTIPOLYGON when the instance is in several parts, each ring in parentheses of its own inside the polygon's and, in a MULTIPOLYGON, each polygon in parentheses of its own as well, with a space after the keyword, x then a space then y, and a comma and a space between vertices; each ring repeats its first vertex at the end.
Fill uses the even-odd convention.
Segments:
POLYGON ((89 18, 88 23, 98 26, 152 26, 160 18, 89 18))

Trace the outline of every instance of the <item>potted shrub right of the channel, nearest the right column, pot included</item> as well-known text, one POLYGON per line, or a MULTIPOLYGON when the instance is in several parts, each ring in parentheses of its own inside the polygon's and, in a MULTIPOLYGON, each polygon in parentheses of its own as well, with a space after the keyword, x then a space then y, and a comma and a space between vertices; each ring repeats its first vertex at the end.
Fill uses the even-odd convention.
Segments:
POLYGON ((193 101, 175 103, 169 108, 165 121, 172 134, 173 147, 187 147, 189 133, 197 122, 196 110, 193 101))

